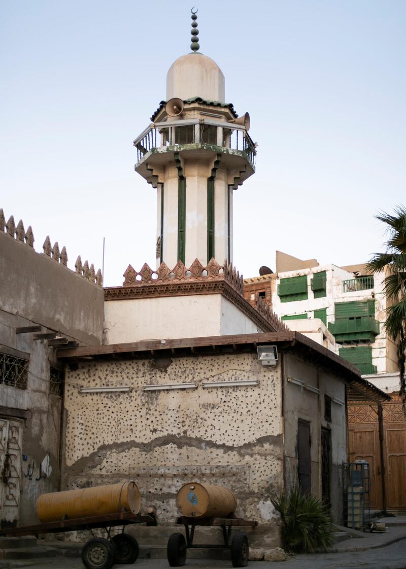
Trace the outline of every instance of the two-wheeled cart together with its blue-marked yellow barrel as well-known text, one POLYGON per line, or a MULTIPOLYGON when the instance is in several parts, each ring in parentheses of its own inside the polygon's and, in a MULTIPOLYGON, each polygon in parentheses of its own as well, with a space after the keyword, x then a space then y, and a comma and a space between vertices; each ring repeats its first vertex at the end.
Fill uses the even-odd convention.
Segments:
POLYGON ((231 539, 231 530, 233 527, 255 527, 258 522, 235 516, 237 500, 231 490, 214 484, 184 484, 176 495, 176 506, 181 516, 175 523, 184 526, 186 538, 181 533, 169 536, 167 556, 171 567, 185 564, 188 549, 229 549, 233 567, 247 566, 248 537, 237 531, 231 539), (193 543, 196 526, 221 527, 223 543, 193 543))

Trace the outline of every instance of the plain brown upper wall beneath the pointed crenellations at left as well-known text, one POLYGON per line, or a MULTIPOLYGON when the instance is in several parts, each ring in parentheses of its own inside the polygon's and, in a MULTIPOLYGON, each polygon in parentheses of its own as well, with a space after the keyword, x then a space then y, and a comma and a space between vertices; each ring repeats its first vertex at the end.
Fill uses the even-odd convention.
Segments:
POLYGON ((0 308, 85 344, 101 344, 102 287, 0 231, 0 308))

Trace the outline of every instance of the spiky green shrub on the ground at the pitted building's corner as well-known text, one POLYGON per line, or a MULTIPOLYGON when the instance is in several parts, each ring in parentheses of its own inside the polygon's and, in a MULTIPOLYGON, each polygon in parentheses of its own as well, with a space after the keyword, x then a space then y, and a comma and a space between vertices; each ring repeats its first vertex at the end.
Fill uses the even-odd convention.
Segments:
POLYGON ((284 523, 284 549, 294 553, 326 549, 333 543, 333 519, 330 508, 314 496, 302 494, 293 488, 290 494, 271 499, 284 523))

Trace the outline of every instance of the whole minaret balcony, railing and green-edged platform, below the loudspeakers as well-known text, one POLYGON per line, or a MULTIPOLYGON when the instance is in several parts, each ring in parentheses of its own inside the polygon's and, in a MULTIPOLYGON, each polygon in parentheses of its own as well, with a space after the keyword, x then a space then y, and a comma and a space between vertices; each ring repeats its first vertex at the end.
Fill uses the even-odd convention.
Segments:
POLYGON ((150 178, 150 167, 173 160, 175 152, 194 159, 204 153, 222 154, 230 169, 245 172, 243 179, 255 172, 256 144, 245 126, 208 118, 151 123, 134 141, 137 152, 135 170, 150 178))

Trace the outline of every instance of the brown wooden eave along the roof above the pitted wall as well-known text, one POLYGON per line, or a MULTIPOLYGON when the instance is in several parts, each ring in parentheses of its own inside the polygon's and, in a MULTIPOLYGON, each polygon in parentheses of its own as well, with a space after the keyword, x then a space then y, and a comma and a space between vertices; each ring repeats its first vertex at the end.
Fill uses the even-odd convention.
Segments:
MULTIPOLYGON (((368 401, 389 401, 390 395, 363 380, 359 371, 350 362, 337 356, 324 346, 310 340, 300 332, 264 332, 238 334, 231 336, 206 336, 199 338, 180 338, 175 340, 144 340, 126 344, 86 346, 80 348, 59 348, 56 356, 65 362, 81 360, 111 360, 112 358, 149 358, 190 355, 209 355, 213 353, 252 352, 257 345, 276 344, 279 349, 297 354, 316 364, 324 366, 346 382, 347 386, 367 397, 368 401)), ((358 396, 359 401, 359 396, 358 396)))

